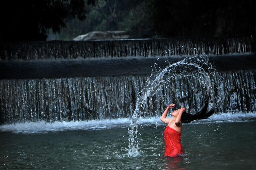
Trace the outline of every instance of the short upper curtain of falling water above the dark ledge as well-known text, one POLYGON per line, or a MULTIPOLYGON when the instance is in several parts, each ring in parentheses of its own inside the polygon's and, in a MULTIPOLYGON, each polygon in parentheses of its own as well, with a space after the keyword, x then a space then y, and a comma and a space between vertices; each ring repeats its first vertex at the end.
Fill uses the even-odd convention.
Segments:
POLYGON ((17 42, 0 44, 0 60, 220 55, 251 49, 251 37, 17 42))

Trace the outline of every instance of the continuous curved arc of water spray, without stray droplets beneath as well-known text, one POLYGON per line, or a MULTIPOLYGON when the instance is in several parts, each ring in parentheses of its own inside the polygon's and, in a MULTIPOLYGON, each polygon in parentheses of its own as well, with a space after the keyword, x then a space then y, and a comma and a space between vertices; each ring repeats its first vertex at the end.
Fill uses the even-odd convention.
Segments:
POLYGON ((156 91, 162 87, 163 85, 169 83, 172 78, 175 76, 192 76, 195 79, 198 79, 193 74, 188 74, 189 72, 196 69, 196 71, 199 71, 203 74, 203 77, 207 81, 207 90, 210 90, 209 87, 211 85, 211 80, 209 78, 209 75, 206 73, 206 71, 203 69, 203 67, 206 66, 208 71, 215 70, 211 64, 208 63, 208 57, 207 56, 194 56, 190 58, 185 58, 182 61, 179 61, 177 63, 171 64, 167 66, 165 69, 159 70, 159 71, 152 71, 151 76, 146 82, 146 85, 141 90, 141 95, 138 94, 136 107, 134 110, 134 113, 131 118, 131 123, 128 127, 128 134, 129 134, 129 149, 128 149, 128 155, 129 156, 138 156, 140 155, 139 151, 139 142, 137 138, 138 133, 138 119, 140 115, 142 114, 141 109, 143 110, 145 101, 147 101, 147 98, 149 96, 153 96, 156 91), (182 69, 179 68, 179 66, 182 66, 182 69), (192 69, 193 68, 193 69, 192 69), (186 69, 189 71, 186 71, 186 69), (168 80, 164 80, 166 74, 171 74, 168 80))

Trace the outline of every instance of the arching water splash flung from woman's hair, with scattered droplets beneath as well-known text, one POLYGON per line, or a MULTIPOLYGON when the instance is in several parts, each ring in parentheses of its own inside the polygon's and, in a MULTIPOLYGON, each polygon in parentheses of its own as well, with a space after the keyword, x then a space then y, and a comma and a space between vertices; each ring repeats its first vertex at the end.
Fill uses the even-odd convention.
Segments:
MULTIPOLYGON (((201 82, 201 89, 197 89, 199 91, 202 90, 212 90, 212 82, 214 80, 211 80, 210 74, 216 69, 209 63, 209 59, 206 55, 197 55, 194 57, 188 57, 183 59, 180 62, 174 63, 172 65, 169 65, 165 69, 159 69, 156 68, 157 64, 155 64, 155 68, 152 71, 151 76, 148 78, 145 86, 141 90, 137 102, 136 102, 136 108, 133 113, 133 116, 131 118, 131 123, 128 127, 128 134, 129 134, 129 150, 128 155, 130 156, 138 156, 140 155, 140 149, 139 149, 139 142, 138 142, 138 120, 139 117, 144 116, 143 114, 145 107, 147 107, 147 101, 151 102, 153 95, 161 89, 161 87, 166 86, 170 84, 171 81, 174 81, 175 79, 184 79, 184 78, 192 78, 194 81, 201 82), (201 76, 198 77, 197 74, 200 74, 201 76)), ((182 83, 185 83, 182 82, 182 83)), ((193 86, 193 82, 192 86, 193 86)), ((190 84, 191 85, 191 84, 190 84)), ((190 86, 189 84, 187 86, 190 86)), ((188 88, 191 89, 191 88, 188 88)), ((219 86, 217 89, 221 89, 221 86, 219 86)), ((175 90, 173 88, 173 90, 175 90)), ((177 93, 180 93, 180 98, 184 98, 188 96, 188 91, 180 91, 176 89, 177 93)), ((163 94, 165 95, 165 94, 163 94)), ((196 95, 196 94, 195 94, 196 95)), ((201 101, 204 101, 204 97, 197 96, 197 99, 201 99, 201 101)), ((218 96, 218 100, 220 100, 220 97, 223 98, 223 96, 218 96)), ((169 101, 169 103, 173 103, 173 101, 169 101)), ((187 106, 186 106, 187 107, 187 106)))

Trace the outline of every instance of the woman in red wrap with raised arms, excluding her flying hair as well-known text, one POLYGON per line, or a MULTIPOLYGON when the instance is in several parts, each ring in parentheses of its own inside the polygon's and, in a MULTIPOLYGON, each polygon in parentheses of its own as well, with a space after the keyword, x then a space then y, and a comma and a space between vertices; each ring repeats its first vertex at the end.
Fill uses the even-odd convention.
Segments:
POLYGON ((181 132, 182 132, 182 113, 186 110, 185 107, 181 107, 178 110, 172 112, 173 119, 166 118, 170 108, 174 108, 175 104, 169 104, 161 116, 161 120, 168 125, 165 128, 165 156, 175 157, 183 154, 181 145, 181 132))

